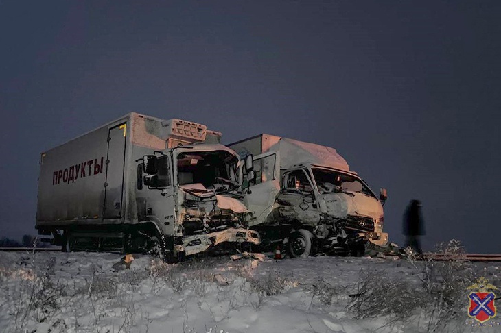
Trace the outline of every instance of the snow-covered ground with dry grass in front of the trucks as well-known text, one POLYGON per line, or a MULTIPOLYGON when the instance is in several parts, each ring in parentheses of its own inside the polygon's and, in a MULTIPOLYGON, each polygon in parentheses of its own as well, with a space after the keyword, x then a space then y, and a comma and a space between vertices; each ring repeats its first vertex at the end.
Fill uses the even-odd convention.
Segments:
POLYGON ((501 332, 467 325, 465 289, 501 288, 498 263, 136 256, 112 271, 121 257, 0 253, 0 332, 501 332))

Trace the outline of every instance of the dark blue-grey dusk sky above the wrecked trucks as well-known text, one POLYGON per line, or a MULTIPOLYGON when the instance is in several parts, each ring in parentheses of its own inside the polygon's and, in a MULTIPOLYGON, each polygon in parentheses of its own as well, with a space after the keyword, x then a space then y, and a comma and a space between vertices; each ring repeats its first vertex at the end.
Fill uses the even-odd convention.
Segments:
POLYGON ((0 236, 34 230, 40 153, 131 111, 337 149, 384 229, 501 253, 501 1, 0 0, 0 236))

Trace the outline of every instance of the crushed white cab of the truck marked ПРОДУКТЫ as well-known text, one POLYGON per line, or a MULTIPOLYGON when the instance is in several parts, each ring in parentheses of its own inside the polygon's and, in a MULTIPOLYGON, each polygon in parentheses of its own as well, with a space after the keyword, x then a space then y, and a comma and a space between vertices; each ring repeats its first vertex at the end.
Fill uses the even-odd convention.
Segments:
MULTIPOLYGON (((159 190, 156 198, 147 193, 148 200, 163 201, 161 210, 167 214, 159 224, 164 249, 191 255, 235 243, 259 244, 259 234, 246 228, 248 210, 237 199, 238 162, 234 151, 219 144, 178 146, 143 156, 138 170, 145 175, 138 182, 143 179, 149 190, 159 190), (173 244, 167 235, 174 235, 173 244)), ((141 190, 137 198, 146 199, 141 190)), ((150 211, 141 220, 155 222, 163 214, 158 215, 150 211)))

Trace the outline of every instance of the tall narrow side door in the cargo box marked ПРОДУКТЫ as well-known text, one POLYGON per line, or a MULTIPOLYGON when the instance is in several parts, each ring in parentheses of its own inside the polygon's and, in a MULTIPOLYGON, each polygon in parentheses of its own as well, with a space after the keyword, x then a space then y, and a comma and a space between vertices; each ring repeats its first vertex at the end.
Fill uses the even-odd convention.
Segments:
POLYGON ((124 193, 124 164, 126 148, 126 123, 108 130, 108 155, 106 156, 106 182, 104 184, 104 219, 121 217, 124 193))

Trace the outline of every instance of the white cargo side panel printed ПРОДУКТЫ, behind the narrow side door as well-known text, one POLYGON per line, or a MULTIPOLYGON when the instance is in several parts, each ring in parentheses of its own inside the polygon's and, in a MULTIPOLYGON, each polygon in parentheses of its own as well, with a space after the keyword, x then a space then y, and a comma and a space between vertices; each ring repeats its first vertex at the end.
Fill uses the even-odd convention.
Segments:
POLYGON ((101 127, 42 154, 37 225, 103 217, 107 138, 101 127))

